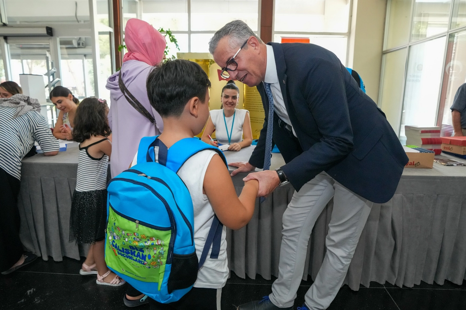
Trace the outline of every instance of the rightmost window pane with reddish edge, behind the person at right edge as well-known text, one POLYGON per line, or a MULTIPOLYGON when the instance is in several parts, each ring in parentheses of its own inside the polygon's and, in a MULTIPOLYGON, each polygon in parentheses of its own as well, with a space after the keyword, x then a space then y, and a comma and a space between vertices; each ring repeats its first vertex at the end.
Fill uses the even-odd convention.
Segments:
POLYGON ((466 31, 452 33, 448 38, 442 93, 440 95, 439 120, 442 136, 451 136, 452 111, 456 91, 466 82, 466 31))

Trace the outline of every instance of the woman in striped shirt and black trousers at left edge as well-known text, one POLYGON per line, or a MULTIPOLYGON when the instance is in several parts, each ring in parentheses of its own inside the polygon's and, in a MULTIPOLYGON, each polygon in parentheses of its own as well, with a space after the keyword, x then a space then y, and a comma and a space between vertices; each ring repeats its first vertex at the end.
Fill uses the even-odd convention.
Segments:
POLYGON ((0 272, 8 274, 29 264, 36 256, 23 254, 20 242, 21 159, 37 141, 45 156, 58 154, 59 143, 45 118, 39 113, 37 99, 23 94, 0 99, 0 272))

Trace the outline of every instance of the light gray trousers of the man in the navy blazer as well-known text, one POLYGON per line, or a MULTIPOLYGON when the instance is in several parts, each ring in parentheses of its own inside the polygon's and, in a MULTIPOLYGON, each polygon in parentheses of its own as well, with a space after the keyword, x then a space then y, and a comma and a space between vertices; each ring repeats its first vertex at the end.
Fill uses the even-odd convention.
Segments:
POLYGON ((283 214, 279 276, 269 296, 276 306, 293 306, 312 228, 332 197, 334 207, 325 239, 327 252, 306 293, 306 305, 311 310, 326 309, 342 286, 372 202, 321 172, 295 192, 283 214))

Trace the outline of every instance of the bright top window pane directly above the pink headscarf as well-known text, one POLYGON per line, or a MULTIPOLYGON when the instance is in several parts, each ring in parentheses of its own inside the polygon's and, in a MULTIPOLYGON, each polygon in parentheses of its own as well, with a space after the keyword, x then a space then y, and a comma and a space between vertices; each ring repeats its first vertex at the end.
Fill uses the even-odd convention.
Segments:
MULTIPOLYGON (((137 3, 134 0, 130 2, 137 3)), ((188 1, 153 0, 144 1, 143 3, 142 20, 147 21, 156 29, 162 27, 164 29, 170 29, 171 31, 188 30, 188 1)))

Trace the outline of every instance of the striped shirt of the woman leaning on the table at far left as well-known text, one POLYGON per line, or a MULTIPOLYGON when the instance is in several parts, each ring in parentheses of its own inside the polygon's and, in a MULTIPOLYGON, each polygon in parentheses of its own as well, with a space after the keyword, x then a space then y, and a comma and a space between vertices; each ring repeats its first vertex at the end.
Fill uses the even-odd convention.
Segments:
POLYGON ((43 152, 58 151, 60 144, 45 118, 29 111, 17 118, 15 107, 0 106, 0 168, 21 180, 21 160, 37 141, 43 152))

